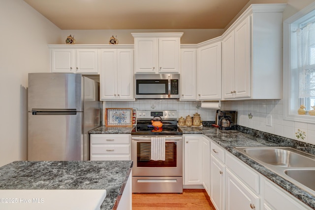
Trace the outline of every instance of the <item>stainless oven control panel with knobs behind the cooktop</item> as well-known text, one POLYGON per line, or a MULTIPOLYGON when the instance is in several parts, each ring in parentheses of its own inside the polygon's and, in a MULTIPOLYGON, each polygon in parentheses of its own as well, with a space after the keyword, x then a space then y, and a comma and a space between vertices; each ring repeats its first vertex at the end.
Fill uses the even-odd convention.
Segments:
POLYGON ((137 110, 137 119, 152 119, 155 116, 161 117, 163 120, 177 119, 176 110, 137 110))

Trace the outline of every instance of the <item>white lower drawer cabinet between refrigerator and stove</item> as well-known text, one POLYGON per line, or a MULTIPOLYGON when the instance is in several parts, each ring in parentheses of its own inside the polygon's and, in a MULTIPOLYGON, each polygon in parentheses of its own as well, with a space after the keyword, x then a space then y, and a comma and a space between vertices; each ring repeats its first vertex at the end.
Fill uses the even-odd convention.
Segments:
POLYGON ((130 134, 91 134, 91 160, 131 160, 130 134))

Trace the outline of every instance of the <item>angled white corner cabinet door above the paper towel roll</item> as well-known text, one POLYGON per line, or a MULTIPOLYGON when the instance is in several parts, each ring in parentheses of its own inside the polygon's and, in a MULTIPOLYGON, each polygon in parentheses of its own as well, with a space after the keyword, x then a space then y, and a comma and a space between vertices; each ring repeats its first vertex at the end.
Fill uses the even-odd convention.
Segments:
POLYGON ((197 99, 221 99, 221 42, 197 49, 197 99))

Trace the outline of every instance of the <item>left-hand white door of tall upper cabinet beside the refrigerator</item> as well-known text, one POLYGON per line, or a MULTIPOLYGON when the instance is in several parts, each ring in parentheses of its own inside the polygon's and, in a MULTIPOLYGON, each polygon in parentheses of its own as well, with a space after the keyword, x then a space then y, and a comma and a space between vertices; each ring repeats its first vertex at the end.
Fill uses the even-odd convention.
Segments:
POLYGON ((117 99, 117 50, 100 50, 100 99, 117 99))

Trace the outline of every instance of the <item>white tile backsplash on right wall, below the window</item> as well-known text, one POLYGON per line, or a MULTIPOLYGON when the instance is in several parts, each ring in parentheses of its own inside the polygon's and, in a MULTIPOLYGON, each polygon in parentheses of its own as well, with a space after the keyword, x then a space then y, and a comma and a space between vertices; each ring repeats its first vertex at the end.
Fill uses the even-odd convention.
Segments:
POLYGON ((236 110, 239 125, 315 145, 315 124, 284 120, 283 100, 224 101, 221 109, 236 110))

